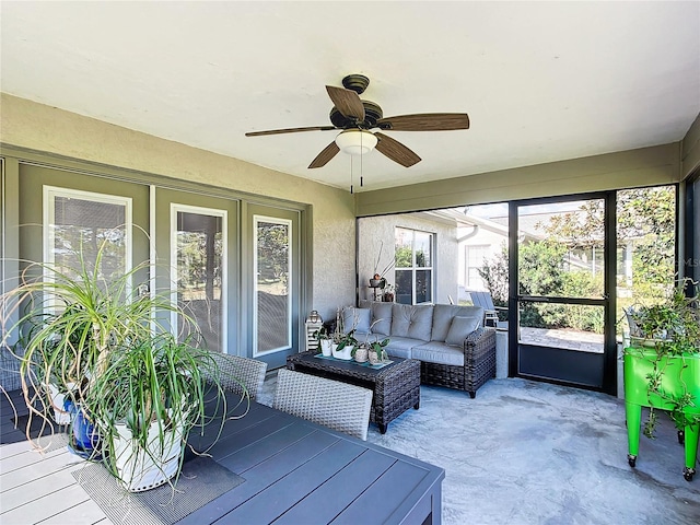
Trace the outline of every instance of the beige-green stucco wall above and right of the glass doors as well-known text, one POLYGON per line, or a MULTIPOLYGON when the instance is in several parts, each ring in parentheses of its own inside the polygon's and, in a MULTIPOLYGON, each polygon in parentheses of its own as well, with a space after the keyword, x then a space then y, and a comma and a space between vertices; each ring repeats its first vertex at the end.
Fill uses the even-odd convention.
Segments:
POLYGON ((304 206, 313 240, 307 308, 326 317, 338 304, 354 302, 354 200, 347 190, 5 93, 0 95, 0 143, 8 165, 31 160, 147 184, 224 188, 280 207, 304 206))

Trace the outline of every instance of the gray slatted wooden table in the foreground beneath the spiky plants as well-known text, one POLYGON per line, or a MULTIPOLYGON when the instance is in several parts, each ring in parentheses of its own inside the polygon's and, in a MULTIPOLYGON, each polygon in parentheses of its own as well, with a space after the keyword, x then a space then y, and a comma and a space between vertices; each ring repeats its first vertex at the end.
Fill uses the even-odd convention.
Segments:
MULTIPOLYGON (((0 408, 0 523, 110 523, 72 476, 86 463, 63 443, 33 450, 10 421, 10 402, 0 408)), ((259 404, 228 421, 220 438, 213 459, 245 481, 180 524, 441 522, 442 468, 259 404)), ((211 440, 194 432, 188 441, 202 451, 211 440)))

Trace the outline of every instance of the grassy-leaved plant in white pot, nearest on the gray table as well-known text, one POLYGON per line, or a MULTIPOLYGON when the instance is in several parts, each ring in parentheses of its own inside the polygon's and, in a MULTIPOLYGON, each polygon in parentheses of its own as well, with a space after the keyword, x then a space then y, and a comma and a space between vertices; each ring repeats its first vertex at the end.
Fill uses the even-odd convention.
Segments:
POLYGON ((203 416, 200 371, 213 365, 189 340, 159 334, 110 352, 92 383, 105 466, 129 491, 158 487, 177 474, 189 429, 203 416))

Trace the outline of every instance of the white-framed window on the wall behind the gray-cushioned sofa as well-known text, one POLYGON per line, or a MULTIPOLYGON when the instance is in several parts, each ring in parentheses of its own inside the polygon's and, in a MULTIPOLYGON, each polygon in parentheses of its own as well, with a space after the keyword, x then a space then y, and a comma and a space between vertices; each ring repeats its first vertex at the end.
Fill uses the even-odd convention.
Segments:
POLYGON ((396 302, 432 303, 434 235, 405 228, 397 228, 395 235, 396 302))

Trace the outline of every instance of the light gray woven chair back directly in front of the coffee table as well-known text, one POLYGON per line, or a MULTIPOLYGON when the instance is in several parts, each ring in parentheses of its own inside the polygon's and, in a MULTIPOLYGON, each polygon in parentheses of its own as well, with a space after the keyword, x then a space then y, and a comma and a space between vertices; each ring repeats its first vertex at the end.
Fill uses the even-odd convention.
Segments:
POLYGON ((280 369, 272 406, 366 441, 372 390, 280 369))

